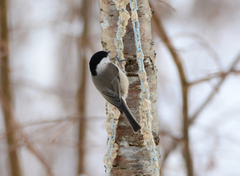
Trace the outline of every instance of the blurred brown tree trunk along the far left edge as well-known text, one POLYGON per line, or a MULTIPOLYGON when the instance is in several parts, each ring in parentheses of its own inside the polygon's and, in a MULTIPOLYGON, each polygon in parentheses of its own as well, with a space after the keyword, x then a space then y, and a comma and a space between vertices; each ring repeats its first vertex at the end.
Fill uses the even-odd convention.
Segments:
POLYGON ((8 158, 10 175, 21 176, 21 169, 17 155, 17 143, 13 132, 13 113, 11 106, 11 90, 9 78, 9 59, 8 59, 8 27, 7 27, 7 3, 6 0, 0 1, 0 59, 1 59, 1 104, 4 115, 4 122, 8 143, 8 158))

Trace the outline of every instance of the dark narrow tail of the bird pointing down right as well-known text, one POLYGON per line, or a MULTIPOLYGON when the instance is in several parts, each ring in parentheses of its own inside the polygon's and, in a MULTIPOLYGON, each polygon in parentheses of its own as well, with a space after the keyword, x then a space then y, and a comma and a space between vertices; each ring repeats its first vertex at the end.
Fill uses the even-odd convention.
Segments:
POLYGON ((121 108, 124 115, 127 117, 130 125, 132 126, 133 131, 136 133, 138 130, 141 129, 141 126, 137 123, 134 116, 132 115, 130 109, 128 108, 125 100, 123 100, 123 106, 121 108))

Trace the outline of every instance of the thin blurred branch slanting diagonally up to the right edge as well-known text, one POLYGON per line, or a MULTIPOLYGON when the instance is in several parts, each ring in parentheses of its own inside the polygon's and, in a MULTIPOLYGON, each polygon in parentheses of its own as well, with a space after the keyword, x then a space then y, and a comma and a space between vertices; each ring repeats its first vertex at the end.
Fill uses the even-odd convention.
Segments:
POLYGON ((230 68, 228 69, 228 71, 226 72, 225 76, 222 76, 221 80, 219 81, 219 83, 215 86, 215 88, 212 90, 212 92, 209 94, 209 96, 206 98, 206 100, 203 102, 203 104, 199 107, 199 109, 194 113, 194 115, 189 118, 189 122, 188 125, 192 125, 194 123, 194 121, 196 120, 196 118, 198 117, 198 115, 203 111, 203 109, 208 105, 208 103, 212 100, 212 98, 214 97, 214 95, 216 94, 216 90, 218 90, 220 88, 220 86, 223 84, 223 82, 225 81, 227 75, 231 72, 234 71, 234 67, 237 65, 237 63, 240 60, 240 54, 237 56, 237 58, 233 61, 233 63, 231 64, 230 68))

